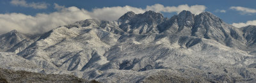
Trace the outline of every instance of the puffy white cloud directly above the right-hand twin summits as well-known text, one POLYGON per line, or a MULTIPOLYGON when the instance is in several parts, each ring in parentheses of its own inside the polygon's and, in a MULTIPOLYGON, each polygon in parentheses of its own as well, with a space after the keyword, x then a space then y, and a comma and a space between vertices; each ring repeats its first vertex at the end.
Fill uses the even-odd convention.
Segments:
POLYGON ((162 4, 154 4, 152 6, 147 6, 146 10, 153 10, 156 12, 176 12, 180 13, 183 10, 188 10, 191 11, 191 13, 194 13, 198 15, 199 13, 202 13, 205 10, 204 5, 193 5, 193 6, 188 6, 188 4, 181 4, 179 6, 163 6, 162 4))

